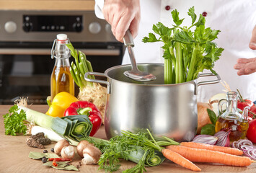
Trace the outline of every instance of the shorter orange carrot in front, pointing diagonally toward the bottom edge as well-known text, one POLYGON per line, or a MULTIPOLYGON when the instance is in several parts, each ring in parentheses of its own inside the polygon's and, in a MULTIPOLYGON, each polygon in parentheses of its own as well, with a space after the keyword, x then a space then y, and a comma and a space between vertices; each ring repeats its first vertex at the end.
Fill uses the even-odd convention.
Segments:
POLYGON ((175 164, 179 164, 180 166, 191 169, 193 171, 201 171, 199 167, 197 167, 191 161, 185 159, 183 156, 180 156, 180 154, 177 154, 175 151, 162 149, 162 154, 170 161, 175 162, 175 164))

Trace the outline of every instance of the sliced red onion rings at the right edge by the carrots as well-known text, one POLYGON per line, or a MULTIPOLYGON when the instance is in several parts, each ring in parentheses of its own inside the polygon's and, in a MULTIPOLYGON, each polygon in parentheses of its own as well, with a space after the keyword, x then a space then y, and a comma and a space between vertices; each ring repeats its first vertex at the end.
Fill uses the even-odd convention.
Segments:
POLYGON ((240 139, 232 143, 234 148, 239 148, 244 152, 244 155, 256 160, 256 147, 253 146, 252 141, 247 139, 240 139))

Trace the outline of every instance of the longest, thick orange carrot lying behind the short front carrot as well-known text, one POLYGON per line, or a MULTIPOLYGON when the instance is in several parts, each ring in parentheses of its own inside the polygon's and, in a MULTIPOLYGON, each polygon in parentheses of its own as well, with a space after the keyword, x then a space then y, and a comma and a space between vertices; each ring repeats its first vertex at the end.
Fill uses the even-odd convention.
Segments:
POLYGON ((190 161, 196 162, 218 163, 237 167, 247 167, 254 162, 245 156, 235 156, 219 151, 190 148, 187 146, 167 146, 167 148, 177 152, 190 161))

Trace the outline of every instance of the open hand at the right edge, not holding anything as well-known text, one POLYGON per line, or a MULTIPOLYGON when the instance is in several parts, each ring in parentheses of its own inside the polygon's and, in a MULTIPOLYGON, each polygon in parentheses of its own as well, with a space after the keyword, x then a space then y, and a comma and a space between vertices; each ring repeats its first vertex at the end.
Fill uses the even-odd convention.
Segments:
MULTIPOLYGON (((250 40, 249 48, 256 50, 256 25, 252 30, 252 38, 250 40)), ((256 57, 255 58, 239 58, 234 65, 234 69, 238 70, 239 76, 252 74, 256 72, 256 57)))

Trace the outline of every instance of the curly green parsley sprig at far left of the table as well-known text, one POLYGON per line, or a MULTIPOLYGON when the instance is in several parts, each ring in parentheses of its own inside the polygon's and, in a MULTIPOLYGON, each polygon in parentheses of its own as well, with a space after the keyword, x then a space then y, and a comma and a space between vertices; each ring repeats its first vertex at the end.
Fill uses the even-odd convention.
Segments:
POLYGON ((6 135, 17 136, 18 133, 23 133, 24 135, 26 133, 26 113, 24 110, 20 110, 19 112, 18 110, 19 107, 14 105, 9 109, 9 113, 3 115, 6 135))

